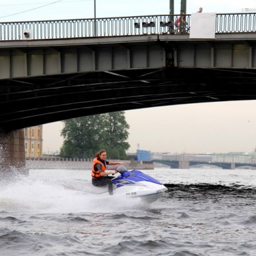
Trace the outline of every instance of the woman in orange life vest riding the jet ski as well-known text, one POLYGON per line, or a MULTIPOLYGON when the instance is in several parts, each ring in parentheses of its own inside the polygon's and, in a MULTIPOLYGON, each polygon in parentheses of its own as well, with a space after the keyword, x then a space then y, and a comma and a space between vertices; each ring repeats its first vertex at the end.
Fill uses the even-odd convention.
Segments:
POLYGON ((92 184, 93 186, 103 187, 108 185, 109 195, 113 195, 113 184, 111 179, 113 177, 108 176, 109 174, 115 174, 116 171, 106 171, 106 165, 123 164, 123 162, 109 162, 106 160, 107 152, 104 149, 97 152, 92 164, 92 184))

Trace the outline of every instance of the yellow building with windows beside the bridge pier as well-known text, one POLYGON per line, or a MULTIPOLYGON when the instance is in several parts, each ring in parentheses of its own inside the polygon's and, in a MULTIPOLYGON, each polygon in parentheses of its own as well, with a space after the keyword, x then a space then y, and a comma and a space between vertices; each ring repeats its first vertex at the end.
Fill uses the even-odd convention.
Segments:
POLYGON ((24 128, 26 157, 43 156, 43 125, 24 128))

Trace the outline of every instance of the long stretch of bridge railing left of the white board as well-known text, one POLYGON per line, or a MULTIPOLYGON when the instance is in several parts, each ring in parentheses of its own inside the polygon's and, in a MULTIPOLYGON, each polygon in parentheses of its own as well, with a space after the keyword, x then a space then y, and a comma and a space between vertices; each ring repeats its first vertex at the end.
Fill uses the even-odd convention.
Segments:
MULTIPOLYGON (((25 22, 1 22, 0 40, 86 38, 92 36, 127 36, 145 33, 164 33, 170 29, 170 21, 178 15, 152 15, 114 17, 101 19, 39 20, 25 22), (31 30, 31 31, 29 31, 31 30)), ((190 15, 186 15, 188 24, 190 15)), ((173 26, 173 25, 172 25, 173 26)), ((186 33, 186 31, 180 31, 186 33)))

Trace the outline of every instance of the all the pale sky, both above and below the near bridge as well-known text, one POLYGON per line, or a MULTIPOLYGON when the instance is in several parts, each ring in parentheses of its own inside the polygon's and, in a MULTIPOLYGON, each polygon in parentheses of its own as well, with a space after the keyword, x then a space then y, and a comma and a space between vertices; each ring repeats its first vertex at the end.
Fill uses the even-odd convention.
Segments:
MULTIPOLYGON (((180 0, 174 0, 179 13, 180 0)), ((97 17, 168 14, 170 0, 96 0, 97 17)), ((187 0, 187 13, 256 11, 255 0, 187 0)), ((87 19, 94 0, 8 0, 0 4, 0 22, 87 19), (4 4, 3 4, 4 3, 4 4)), ((138 145, 151 152, 252 152, 256 147, 256 100, 189 104, 125 111, 129 152, 138 145)), ((44 125, 44 152, 60 150, 61 122, 44 125)))

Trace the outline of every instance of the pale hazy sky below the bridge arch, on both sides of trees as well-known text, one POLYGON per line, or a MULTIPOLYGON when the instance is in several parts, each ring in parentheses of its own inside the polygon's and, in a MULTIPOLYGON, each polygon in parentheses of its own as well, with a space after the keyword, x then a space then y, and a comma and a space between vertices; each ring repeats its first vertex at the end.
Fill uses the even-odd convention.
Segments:
MULTIPOLYGON (((256 100, 166 106, 125 111, 129 152, 252 152, 256 146, 256 100)), ((62 123, 44 125, 44 150, 62 145, 62 123)))

